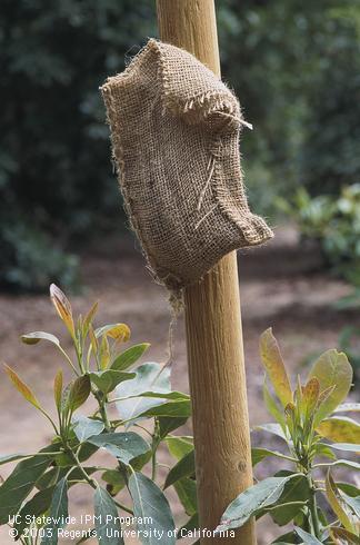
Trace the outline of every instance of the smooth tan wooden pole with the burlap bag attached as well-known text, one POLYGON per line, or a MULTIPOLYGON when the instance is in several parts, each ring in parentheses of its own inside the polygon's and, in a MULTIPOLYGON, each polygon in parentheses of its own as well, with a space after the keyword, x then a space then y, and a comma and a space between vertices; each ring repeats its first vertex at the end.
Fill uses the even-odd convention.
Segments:
MULTIPOLYGON (((157 0, 163 41, 181 47, 220 77, 213 0, 157 0)), ((189 382, 200 528, 212 531, 228 504, 252 485, 237 255, 221 259, 186 290, 189 382)), ((201 544, 254 545, 251 521, 233 538, 201 544)))

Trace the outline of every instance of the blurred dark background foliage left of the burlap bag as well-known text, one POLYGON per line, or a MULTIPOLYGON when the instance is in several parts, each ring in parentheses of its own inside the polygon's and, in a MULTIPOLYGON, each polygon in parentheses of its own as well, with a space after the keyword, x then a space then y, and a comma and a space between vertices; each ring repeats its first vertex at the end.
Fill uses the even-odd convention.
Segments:
POLYGON ((0 10, 0 284, 69 286, 69 242, 120 225, 99 86, 154 33, 153 6, 3 0, 0 10))

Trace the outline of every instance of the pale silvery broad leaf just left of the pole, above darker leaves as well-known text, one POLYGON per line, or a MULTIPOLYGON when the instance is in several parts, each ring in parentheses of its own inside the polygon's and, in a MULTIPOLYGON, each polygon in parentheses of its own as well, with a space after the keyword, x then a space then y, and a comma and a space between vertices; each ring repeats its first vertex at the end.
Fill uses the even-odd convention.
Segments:
POLYGON ((133 379, 119 384, 116 388, 116 396, 123 399, 117 402, 116 405, 123 420, 131 422, 144 415, 148 409, 166 403, 161 398, 134 397, 144 392, 169 394, 171 392, 170 368, 163 369, 160 364, 156 363, 143 364, 137 368, 137 376, 133 379))

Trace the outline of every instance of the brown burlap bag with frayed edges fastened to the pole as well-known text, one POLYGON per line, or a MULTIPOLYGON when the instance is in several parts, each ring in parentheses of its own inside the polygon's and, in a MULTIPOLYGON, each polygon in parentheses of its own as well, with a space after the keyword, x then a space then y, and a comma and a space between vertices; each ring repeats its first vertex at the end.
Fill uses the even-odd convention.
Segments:
POLYGON ((192 54, 150 39, 101 88, 126 209, 154 278, 199 280, 272 231, 250 212, 234 95, 192 54))

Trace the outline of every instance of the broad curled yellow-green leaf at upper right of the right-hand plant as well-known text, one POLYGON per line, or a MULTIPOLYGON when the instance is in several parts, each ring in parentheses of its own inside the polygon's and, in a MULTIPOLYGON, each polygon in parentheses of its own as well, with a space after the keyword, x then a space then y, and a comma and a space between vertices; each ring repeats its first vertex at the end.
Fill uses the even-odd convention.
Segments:
POLYGON ((314 417, 314 426, 329 416, 348 396, 352 382, 352 367, 343 353, 328 350, 320 356, 310 370, 309 378, 316 377, 320 392, 333 387, 332 393, 320 405, 314 417))

